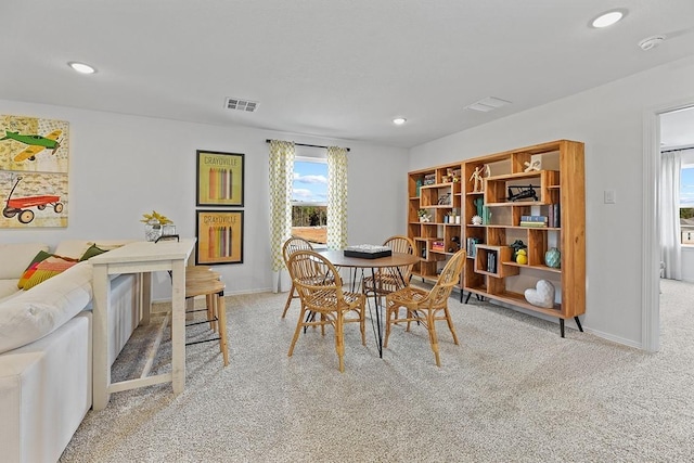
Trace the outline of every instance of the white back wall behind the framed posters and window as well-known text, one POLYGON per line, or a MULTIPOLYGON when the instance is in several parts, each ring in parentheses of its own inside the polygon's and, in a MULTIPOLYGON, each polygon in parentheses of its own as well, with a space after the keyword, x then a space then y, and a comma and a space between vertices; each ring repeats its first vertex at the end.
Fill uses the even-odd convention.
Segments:
MULTIPOLYGON (((351 149, 350 244, 382 243, 404 230, 407 150, 14 101, 0 100, 0 108, 1 114, 68 120, 72 147, 68 227, 0 229, 0 243, 41 241, 54 246, 68 239, 143 240, 140 219, 152 209, 171 218, 181 236, 194 236, 195 151, 244 153, 244 262, 216 270, 230 294, 266 291, 271 286, 266 139, 351 149)), ((155 281, 154 297, 168 297, 168 275, 157 274, 155 281)))

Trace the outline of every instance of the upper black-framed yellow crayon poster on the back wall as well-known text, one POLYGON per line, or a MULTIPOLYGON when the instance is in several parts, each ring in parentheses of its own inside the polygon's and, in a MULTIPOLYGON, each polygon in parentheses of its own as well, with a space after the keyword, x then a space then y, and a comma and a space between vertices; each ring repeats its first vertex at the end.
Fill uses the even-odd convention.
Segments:
POLYGON ((197 206, 243 207, 244 155, 197 151, 197 206))

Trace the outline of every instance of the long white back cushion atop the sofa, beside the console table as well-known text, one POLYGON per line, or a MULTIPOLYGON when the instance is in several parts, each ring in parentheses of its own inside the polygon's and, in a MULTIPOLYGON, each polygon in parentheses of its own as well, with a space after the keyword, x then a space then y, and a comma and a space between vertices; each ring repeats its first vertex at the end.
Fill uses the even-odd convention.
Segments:
POLYGON ((92 268, 79 262, 60 275, 0 303, 0 353, 55 331, 91 300, 92 268))

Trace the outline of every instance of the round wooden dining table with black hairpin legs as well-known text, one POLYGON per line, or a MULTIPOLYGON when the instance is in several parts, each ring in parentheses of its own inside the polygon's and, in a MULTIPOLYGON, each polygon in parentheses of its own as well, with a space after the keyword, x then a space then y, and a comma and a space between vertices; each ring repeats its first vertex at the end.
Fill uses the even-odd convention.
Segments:
MULTIPOLYGON (((344 250, 319 250, 318 253, 324 256, 327 260, 331 261, 333 266, 337 268, 344 267, 355 270, 355 278, 351 281, 352 290, 355 288, 356 272, 358 269, 362 270, 362 276, 363 270, 371 269, 371 276, 375 279, 376 269, 411 266, 420 260, 417 256, 407 253, 391 253, 390 256, 377 257, 375 259, 345 256, 344 250)), ((373 318, 371 319, 371 325, 372 327, 374 327, 374 335, 378 344, 378 356, 383 358, 383 323, 381 322, 381 298, 375 292, 373 294, 373 300, 374 307, 376 309, 376 326, 373 326, 373 318)))

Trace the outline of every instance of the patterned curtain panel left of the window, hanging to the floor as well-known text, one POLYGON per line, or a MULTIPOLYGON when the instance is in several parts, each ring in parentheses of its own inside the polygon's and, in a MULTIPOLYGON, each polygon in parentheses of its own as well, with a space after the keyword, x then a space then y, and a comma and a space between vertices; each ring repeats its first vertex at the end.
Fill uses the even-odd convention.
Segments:
POLYGON ((284 268, 282 246, 292 236, 294 154, 294 142, 270 141, 270 250, 273 293, 282 291, 280 278, 284 268))

